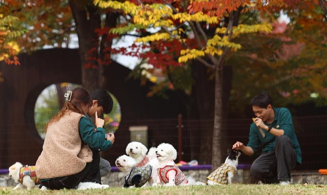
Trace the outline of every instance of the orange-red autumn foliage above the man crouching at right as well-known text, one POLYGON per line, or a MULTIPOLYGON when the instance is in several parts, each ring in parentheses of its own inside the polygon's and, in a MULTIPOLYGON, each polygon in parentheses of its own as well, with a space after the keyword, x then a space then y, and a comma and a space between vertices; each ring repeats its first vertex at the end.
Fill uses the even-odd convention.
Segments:
POLYGON ((242 60, 244 68, 234 69, 238 76, 233 77, 230 103, 242 107, 255 90, 269 90, 276 105, 305 102, 326 105, 327 59, 324 53, 327 51, 327 27, 323 9, 313 0, 285 0, 283 6, 270 7, 266 11, 275 18, 281 11, 289 18, 289 22, 273 24, 272 33, 264 37, 244 37, 244 47, 232 59, 242 60), (279 37, 279 40, 274 39, 272 42, 273 37, 279 37), (270 54, 265 49, 255 49, 257 51, 252 55, 244 55, 263 43, 262 40, 267 46, 279 44, 281 48, 274 48, 270 54), (260 54, 269 57, 263 59, 260 54), (245 76, 241 73, 245 73, 245 76), (251 77, 247 76, 249 74, 251 77))

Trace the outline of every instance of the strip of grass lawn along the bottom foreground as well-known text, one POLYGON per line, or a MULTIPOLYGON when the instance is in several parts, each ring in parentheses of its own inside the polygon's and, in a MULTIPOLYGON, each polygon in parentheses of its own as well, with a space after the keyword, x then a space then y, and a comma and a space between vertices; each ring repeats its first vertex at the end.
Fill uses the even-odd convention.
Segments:
POLYGON ((62 189, 41 191, 35 188, 13 190, 13 187, 2 187, 1 194, 327 194, 327 185, 314 184, 232 184, 215 186, 178 186, 178 187, 143 187, 143 188, 122 188, 110 187, 108 189, 62 189))

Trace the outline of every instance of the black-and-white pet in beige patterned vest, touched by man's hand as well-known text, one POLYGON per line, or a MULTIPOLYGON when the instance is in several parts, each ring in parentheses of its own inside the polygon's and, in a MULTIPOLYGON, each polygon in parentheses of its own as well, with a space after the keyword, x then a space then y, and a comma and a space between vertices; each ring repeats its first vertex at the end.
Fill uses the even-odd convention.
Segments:
POLYGON ((234 173, 237 171, 238 157, 241 155, 241 152, 229 148, 227 152, 228 156, 225 163, 221 164, 221 166, 207 176, 208 185, 232 184, 234 173))

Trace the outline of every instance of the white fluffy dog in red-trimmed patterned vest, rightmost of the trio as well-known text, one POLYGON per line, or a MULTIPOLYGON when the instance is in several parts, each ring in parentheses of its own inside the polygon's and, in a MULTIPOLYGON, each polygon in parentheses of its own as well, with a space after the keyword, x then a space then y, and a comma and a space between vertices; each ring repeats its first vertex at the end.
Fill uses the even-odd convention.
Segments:
POLYGON ((195 181, 191 176, 186 177, 175 164, 177 151, 174 146, 169 143, 161 143, 158 145, 156 153, 159 162, 157 169, 158 184, 164 183, 164 186, 204 185, 203 182, 195 181))

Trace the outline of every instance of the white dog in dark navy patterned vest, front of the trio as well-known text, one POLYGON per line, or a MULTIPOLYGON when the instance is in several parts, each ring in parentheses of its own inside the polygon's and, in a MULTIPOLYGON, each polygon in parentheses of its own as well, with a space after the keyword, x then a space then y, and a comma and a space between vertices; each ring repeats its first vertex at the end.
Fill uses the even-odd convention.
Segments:
POLYGON ((142 186, 156 186, 157 172, 154 168, 157 159, 152 159, 147 165, 136 167, 134 158, 121 155, 115 164, 117 168, 125 174, 124 187, 142 187, 142 186))

